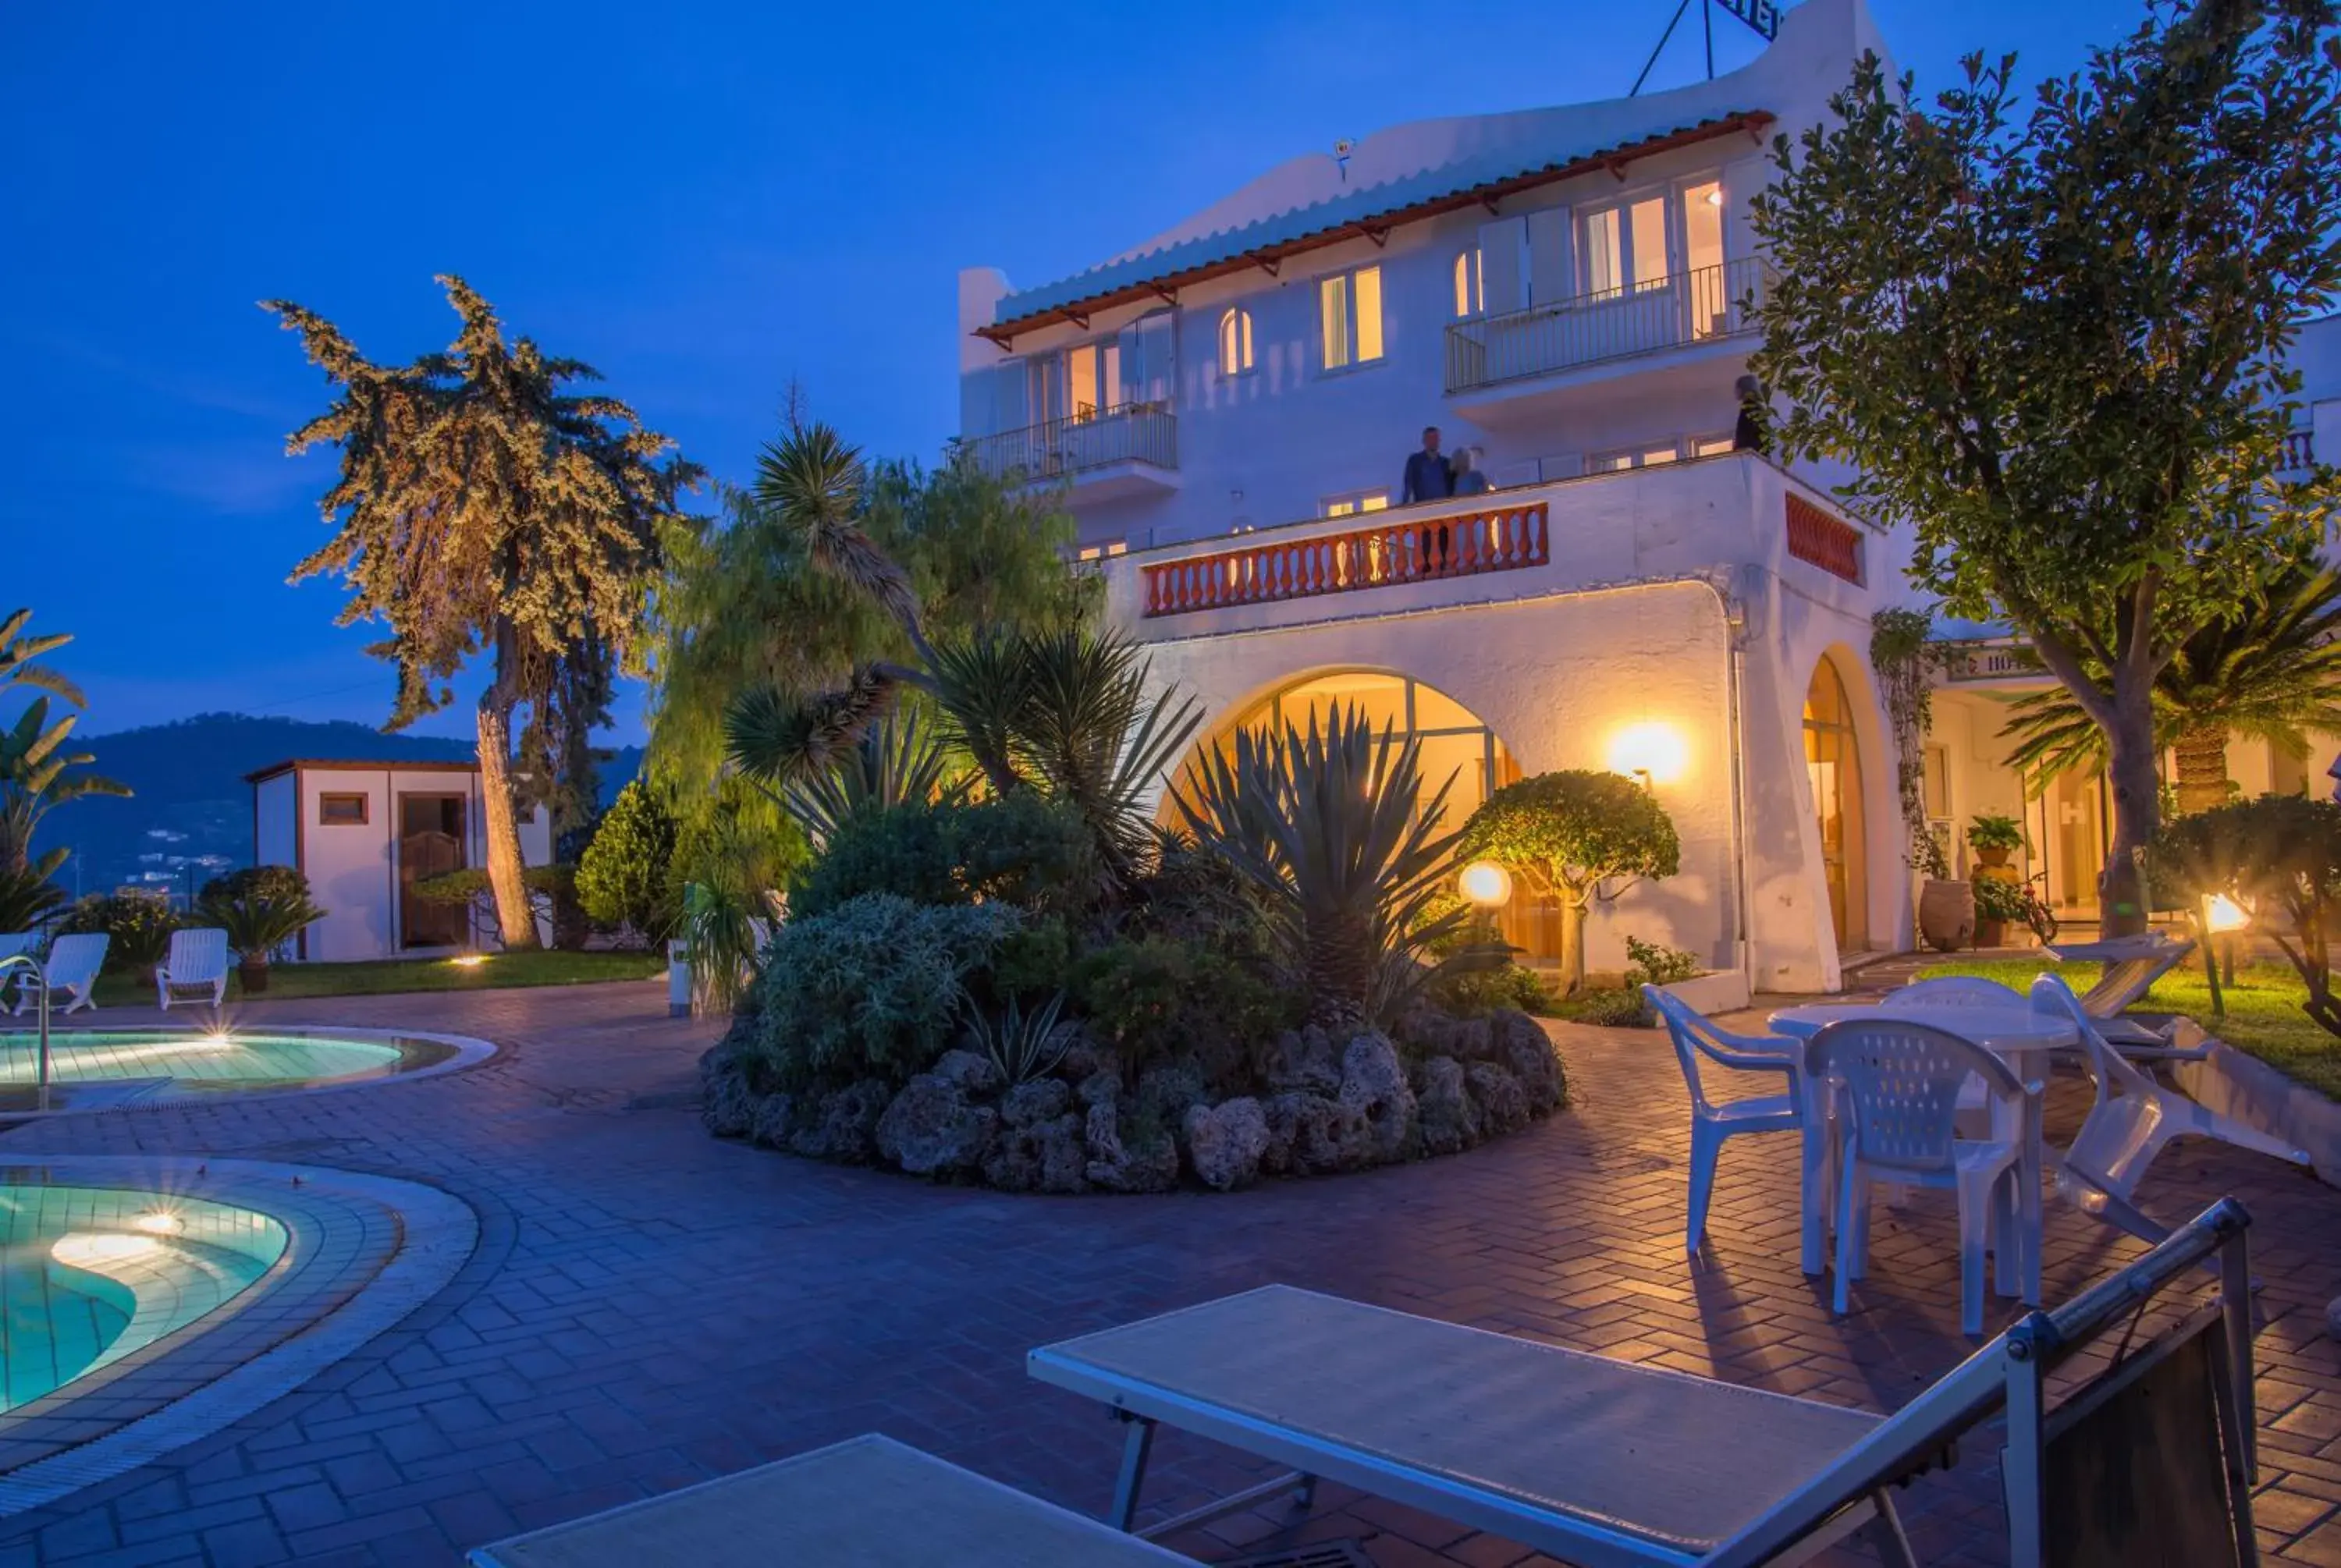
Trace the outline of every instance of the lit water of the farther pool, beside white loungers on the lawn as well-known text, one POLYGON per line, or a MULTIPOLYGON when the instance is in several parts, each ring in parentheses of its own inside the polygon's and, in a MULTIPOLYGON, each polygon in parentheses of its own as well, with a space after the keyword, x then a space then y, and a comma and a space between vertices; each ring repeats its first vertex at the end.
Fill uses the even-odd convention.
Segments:
POLYGON ((54 1030, 49 1102, 40 1037, 0 1032, 0 1114, 103 1109, 222 1093, 365 1084, 475 1060, 478 1041, 363 1030, 54 1030))

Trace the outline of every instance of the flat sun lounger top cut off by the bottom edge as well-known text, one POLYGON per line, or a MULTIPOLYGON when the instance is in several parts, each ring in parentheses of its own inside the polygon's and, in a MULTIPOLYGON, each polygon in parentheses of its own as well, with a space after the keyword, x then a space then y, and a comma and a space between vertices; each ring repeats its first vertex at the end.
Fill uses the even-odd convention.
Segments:
POLYGON ((1178 1556, 890 1437, 852 1437, 480 1547, 475 1568, 1175 1568, 1178 1556))

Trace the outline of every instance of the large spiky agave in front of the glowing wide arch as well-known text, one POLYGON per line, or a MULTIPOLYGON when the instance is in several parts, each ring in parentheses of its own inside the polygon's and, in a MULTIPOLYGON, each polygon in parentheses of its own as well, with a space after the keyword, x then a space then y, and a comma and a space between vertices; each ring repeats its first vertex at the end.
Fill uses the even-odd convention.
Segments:
MULTIPOLYGON (((1447 791, 1426 796, 1414 737, 1341 707, 1318 728, 1243 730, 1178 791, 1187 828, 1266 899, 1325 1027, 1391 1018, 1435 969, 1416 955, 1470 913, 1433 915, 1454 868, 1447 791)), ((1477 964, 1480 955, 1465 953, 1477 964)))

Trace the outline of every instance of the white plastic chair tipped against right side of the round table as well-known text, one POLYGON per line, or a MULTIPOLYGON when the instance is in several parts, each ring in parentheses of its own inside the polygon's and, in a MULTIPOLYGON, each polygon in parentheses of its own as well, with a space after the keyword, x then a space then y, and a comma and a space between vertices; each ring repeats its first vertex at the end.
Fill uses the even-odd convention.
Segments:
MULTIPOLYGON (((2130 1205, 2137 1180, 2172 1137, 2217 1137, 2224 1144, 2308 1165, 2306 1149, 2292 1149, 2233 1116, 2222 1116, 2175 1088, 2158 1084, 2121 1053, 2100 1030, 2072 985, 2053 974, 2032 981, 2032 999, 2041 1009, 2060 1009, 2081 1030, 2088 1077, 2098 1081, 2098 1102, 2088 1107, 2081 1130, 2065 1151, 2058 1191, 2093 1215, 2109 1215, 2121 1229, 2161 1240, 2168 1231, 2130 1205)), ((2196 1032, 2201 1037, 2201 1030, 2196 1032)), ((2208 1037, 2203 1037, 2208 1041, 2208 1037)), ((2205 1046, 2208 1051, 2208 1046, 2205 1046)))

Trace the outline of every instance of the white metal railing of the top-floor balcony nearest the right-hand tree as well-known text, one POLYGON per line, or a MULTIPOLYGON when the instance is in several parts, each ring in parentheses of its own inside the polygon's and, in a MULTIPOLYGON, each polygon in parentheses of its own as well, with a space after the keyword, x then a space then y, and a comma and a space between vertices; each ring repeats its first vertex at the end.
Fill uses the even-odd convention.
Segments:
POLYGON ((1662 278, 1646 288, 1578 295, 1447 328, 1447 391, 1522 381, 1578 365, 1751 332, 1765 293, 1763 257, 1662 278))

